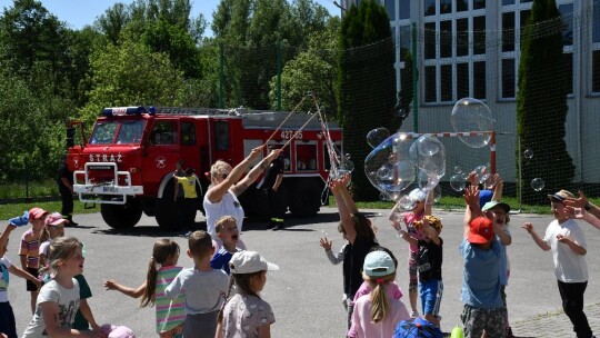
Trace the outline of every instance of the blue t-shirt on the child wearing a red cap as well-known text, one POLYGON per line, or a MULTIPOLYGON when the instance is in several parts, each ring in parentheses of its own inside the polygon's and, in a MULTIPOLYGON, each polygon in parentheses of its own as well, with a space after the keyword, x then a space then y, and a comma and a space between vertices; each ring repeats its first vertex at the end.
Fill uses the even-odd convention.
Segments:
POLYGON ((503 307, 500 298, 500 267, 503 258, 500 247, 498 240, 493 240, 488 250, 472 246, 467 239, 462 240, 459 246, 464 264, 460 296, 462 302, 486 309, 503 307))

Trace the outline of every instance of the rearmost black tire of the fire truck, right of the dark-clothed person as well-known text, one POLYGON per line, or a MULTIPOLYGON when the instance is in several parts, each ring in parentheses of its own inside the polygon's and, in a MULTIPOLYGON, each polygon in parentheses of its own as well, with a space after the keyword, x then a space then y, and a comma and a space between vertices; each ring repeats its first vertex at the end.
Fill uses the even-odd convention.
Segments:
POLYGON ((321 208, 321 190, 317 179, 299 179, 290 191, 290 212, 293 217, 311 217, 321 208))

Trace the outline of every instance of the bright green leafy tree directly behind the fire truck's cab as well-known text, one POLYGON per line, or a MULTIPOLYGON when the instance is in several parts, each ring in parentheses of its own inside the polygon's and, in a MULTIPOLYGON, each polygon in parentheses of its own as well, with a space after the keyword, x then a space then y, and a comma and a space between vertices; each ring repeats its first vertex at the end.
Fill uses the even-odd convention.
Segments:
POLYGON ((89 102, 82 118, 93 122, 104 107, 181 106, 183 76, 164 53, 123 41, 91 56, 89 102))

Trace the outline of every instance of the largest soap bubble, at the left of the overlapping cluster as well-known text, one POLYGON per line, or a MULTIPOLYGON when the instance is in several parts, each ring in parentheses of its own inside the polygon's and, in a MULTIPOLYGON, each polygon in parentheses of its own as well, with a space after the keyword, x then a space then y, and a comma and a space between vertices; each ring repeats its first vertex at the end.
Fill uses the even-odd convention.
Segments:
POLYGON ((417 178, 417 169, 409 160, 412 139, 394 133, 377 146, 364 159, 367 178, 381 192, 396 199, 417 178))

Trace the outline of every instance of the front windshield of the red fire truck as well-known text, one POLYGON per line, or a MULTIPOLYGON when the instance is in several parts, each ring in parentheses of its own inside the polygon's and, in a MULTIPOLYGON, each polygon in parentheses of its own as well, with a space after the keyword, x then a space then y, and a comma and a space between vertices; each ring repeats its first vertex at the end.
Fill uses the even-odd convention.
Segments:
POLYGON ((146 120, 101 121, 90 137, 91 145, 139 145, 146 120))

